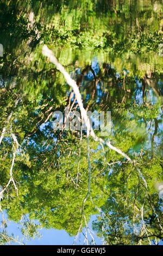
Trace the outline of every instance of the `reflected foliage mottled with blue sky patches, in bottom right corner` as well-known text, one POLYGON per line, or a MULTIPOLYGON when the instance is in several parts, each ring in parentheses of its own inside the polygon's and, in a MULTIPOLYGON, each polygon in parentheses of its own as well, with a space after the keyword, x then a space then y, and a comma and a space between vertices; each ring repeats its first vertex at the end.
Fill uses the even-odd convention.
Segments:
POLYGON ((159 206, 162 202, 154 188, 156 180, 162 179, 162 162, 159 158, 149 160, 146 154, 143 154, 141 162, 143 165, 139 167, 147 181, 147 196, 135 169, 124 165, 113 168, 109 175, 109 198, 102 206, 102 215, 93 223, 98 235, 103 236, 108 245, 146 245, 150 240, 157 243, 163 237, 159 206))

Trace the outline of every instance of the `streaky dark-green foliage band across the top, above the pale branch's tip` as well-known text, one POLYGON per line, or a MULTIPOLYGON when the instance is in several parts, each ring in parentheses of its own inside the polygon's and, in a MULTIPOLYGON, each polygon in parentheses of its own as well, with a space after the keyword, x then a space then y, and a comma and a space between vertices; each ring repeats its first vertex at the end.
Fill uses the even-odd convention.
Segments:
MULTIPOLYGON (((162 20, 151 1, 120 4, 114 0, 108 4, 106 1, 84 0, 78 2, 78 8, 74 2, 2 1, 0 28, 5 36, 12 38, 2 42, 5 52, 11 42, 19 45, 22 39, 30 42, 32 47, 43 42, 111 51, 118 56, 124 52, 159 52, 162 20), (105 4, 106 9, 101 12, 105 4), (35 19, 32 27, 27 26, 30 11, 34 12, 35 19)), ((12 54, 10 58, 13 58, 12 54)))

